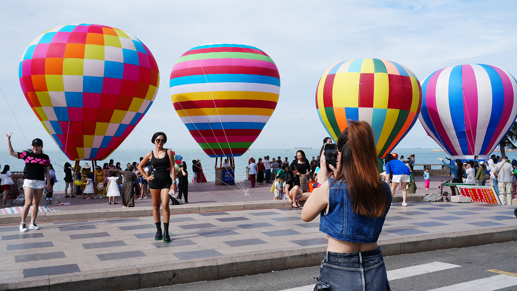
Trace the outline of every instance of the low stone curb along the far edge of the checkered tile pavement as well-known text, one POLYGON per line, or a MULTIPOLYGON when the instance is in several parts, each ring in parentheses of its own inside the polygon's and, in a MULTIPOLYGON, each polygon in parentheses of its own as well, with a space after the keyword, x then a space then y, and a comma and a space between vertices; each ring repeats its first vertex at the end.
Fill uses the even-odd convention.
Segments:
MULTIPOLYGON (((408 194, 408 202, 422 201, 427 194, 408 194)), ((402 202, 402 196, 393 197, 393 202, 402 202)), ((290 207, 291 204, 287 200, 265 200, 252 202, 221 202, 206 204, 185 204, 171 207, 171 213, 191 213, 205 211, 223 211, 223 210, 241 210, 241 209, 258 209, 258 208, 280 208, 290 207)), ((102 218, 117 217, 139 217, 153 215, 153 208, 148 207, 132 207, 132 208, 115 208, 115 209, 88 209, 88 210, 68 210, 56 212, 38 213, 37 221, 53 222, 67 220, 88 220, 102 218)), ((22 217, 21 213, 0 214, 0 225, 19 224, 22 217)), ((27 219, 31 219, 27 216, 27 219)), ((27 222, 26 220, 25 222, 27 222)))

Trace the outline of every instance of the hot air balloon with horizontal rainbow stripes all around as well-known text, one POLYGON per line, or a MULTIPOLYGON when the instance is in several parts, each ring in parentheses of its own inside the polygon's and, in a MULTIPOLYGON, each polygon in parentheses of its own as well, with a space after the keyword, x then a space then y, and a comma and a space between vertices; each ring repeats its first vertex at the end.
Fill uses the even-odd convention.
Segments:
POLYGON ((254 46, 211 43, 181 55, 170 87, 176 113, 206 154, 239 157, 275 110, 280 75, 254 46))

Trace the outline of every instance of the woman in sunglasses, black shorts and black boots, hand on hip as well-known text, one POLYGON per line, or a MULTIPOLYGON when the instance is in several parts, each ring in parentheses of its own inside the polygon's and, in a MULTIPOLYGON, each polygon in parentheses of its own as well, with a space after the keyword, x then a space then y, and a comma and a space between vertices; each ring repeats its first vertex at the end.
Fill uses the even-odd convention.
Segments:
POLYGON ((155 144, 155 150, 149 151, 145 155, 144 159, 140 161, 138 165, 138 170, 149 182, 149 190, 151 197, 153 197, 153 216, 156 225, 155 240, 160 241, 163 239, 164 243, 170 243, 169 218, 171 217, 171 210, 169 209, 169 191, 177 191, 173 155, 172 150, 163 148, 163 145, 167 142, 165 133, 156 132, 153 134, 151 142, 155 144), (149 160, 153 166, 153 174, 147 176, 144 171, 144 166, 149 160), (163 209, 163 235, 160 220, 160 197, 163 209))

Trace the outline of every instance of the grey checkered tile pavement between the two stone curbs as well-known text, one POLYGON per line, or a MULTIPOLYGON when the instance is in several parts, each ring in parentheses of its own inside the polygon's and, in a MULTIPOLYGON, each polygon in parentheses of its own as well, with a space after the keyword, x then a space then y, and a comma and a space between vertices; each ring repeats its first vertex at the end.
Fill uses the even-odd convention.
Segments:
MULTIPOLYGON (((379 241, 517 226, 511 206, 410 202, 390 209, 379 241)), ((300 209, 234 210, 171 215, 172 242, 155 241, 153 217, 41 222, 20 233, 0 227, 0 276, 23 278, 171 263, 256 251, 324 246, 319 219, 303 222, 300 209), (245 223, 243 223, 245 222, 245 223), (248 223, 246 223, 248 222, 248 223), (69 267, 63 267, 69 266, 69 267)))

